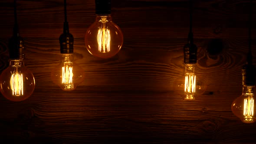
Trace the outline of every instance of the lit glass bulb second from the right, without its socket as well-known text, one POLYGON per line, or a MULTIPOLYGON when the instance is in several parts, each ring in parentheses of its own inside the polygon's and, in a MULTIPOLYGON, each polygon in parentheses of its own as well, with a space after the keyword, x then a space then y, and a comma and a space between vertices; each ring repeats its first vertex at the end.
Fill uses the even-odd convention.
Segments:
POLYGON ((184 75, 174 81, 174 91, 184 100, 195 100, 205 89, 205 82, 196 75, 196 65, 185 64, 184 75))

